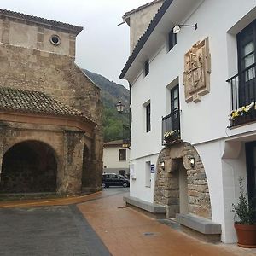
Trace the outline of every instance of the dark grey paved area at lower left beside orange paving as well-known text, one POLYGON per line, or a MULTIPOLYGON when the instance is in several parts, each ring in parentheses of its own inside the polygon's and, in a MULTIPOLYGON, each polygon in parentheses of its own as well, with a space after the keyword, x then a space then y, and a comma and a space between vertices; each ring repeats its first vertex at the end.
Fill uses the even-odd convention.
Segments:
POLYGON ((0 255, 110 255, 75 205, 0 209, 0 255))

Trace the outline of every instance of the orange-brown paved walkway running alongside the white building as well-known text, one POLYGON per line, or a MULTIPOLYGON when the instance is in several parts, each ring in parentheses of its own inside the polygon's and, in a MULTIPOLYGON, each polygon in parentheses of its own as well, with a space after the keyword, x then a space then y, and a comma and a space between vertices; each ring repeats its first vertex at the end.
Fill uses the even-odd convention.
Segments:
POLYGON ((209 244, 160 224, 143 213, 124 207, 125 194, 111 195, 79 204, 79 210, 113 256, 251 256, 254 249, 209 244))

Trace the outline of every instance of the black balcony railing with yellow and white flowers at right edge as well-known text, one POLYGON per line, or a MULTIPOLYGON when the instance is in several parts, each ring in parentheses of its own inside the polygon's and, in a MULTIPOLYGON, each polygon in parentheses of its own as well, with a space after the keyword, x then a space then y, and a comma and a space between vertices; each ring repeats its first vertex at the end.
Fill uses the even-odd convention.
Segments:
POLYGON ((230 126, 256 120, 256 63, 227 80, 231 87, 230 126))

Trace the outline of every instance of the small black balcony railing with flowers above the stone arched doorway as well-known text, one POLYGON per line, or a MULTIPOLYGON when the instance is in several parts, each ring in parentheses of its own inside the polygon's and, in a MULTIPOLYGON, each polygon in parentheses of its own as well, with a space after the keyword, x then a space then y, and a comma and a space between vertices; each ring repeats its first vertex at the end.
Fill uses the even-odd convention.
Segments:
POLYGON ((162 145, 180 140, 180 111, 177 109, 162 118, 162 145))

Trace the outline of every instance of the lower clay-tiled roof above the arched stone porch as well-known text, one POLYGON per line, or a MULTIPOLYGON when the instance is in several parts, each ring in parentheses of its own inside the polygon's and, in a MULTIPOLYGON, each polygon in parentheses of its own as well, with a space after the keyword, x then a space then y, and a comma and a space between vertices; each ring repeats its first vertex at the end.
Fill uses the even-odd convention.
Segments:
POLYGON ((57 116, 78 116, 87 119, 79 110, 35 90, 0 87, 0 110, 21 113, 43 113, 57 116))

